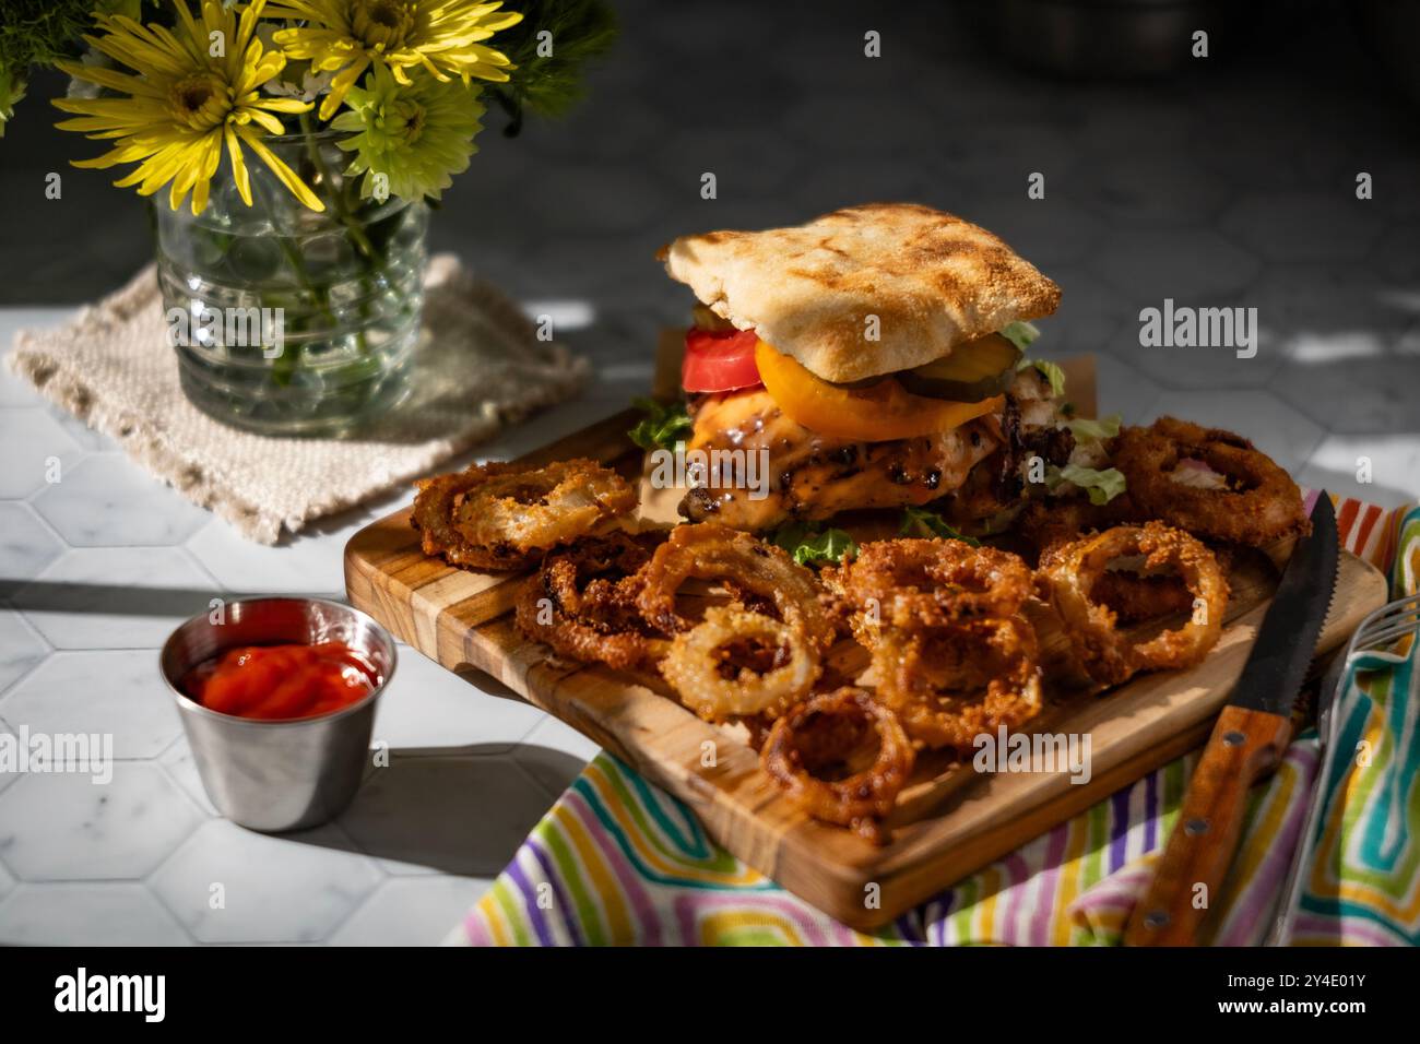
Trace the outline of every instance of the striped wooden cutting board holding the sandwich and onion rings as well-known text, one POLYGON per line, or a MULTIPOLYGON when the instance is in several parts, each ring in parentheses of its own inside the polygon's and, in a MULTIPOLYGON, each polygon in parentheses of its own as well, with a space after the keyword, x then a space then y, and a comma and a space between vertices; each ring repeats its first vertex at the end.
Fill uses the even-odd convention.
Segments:
MULTIPOLYGON (((1092 384, 1092 382, 1091 382, 1092 384)), ((1072 392, 1074 392, 1072 385, 1072 392)), ((626 410, 545 446, 535 462, 586 456, 639 477, 642 455, 626 410)), ((356 533, 345 548, 351 602, 450 670, 493 675, 562 719, 696 810, 711 837, 755 869, 855 928, 876 928, 1201 746, 1241 673, 1289 547, 1241 560, 1223 638, 1191 670, 1145 675, 1106 695, 1074 687, 1068 643, 1048 611, 1032 614, 1052 680, 1035 733, 1088 737, 1088 780, 1054 773, 977 773, 970 763, 922 758, 889 820, 892 841, 869 845, 808 818, 760 771, 743 730, 701 722, 655 678, 551 658, 513 626, 523 575, 450 568, 419 550, 409 511, 356 533)), ((1343 555, 1318 652, 1335 649, 1386 599, 1384 578, 1343 555)), ((865 662, 851 642, 832 656, 865 662), (853 658, 858 658, 855 660, 853 658)))

